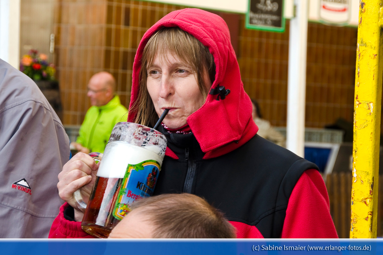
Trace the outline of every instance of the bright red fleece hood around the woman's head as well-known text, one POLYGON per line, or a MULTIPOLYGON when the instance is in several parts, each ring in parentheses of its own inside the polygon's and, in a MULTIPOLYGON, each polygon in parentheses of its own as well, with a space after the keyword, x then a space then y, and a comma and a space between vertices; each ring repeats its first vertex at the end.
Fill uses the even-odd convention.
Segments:
MULTIPOLYGON (((228 26, 220 16, 208 11, 190 8, 173 11, 146 31, 134 58, 130 107, 137 100, 144 47, 154 32, 164 26, 178 26, 207 46, 216 65, 212 88, 230 89, 230 94, 219 101, 217 95, 209 94, 205 104, 187 119, 202 151, 206 152, 205 158, 220 156, 246 143, 258 131, 252 120, 252 103, 243 88, 228 26)), ((129 111, 128 121, 135 115, 136 112, 129 111)))

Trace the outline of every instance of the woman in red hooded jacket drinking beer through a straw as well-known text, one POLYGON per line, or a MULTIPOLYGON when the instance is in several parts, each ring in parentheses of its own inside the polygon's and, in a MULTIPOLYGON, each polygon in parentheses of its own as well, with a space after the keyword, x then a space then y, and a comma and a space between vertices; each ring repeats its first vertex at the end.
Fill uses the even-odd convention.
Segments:
MULTIPOLYGON (((318 168, 257 135, 229 29, 218 15, 173 11, 142 37, 129 122, 159 130, 167 150, 154 190, 192 193, 221 210, 239 238, 336 238, 318 168)), ((65 203, 50 237, 89 237, 73 193, 87 200, 98 165, 76 154, 59 174, 65 203), (76 222, 77 221, 77 222, 76 222)))

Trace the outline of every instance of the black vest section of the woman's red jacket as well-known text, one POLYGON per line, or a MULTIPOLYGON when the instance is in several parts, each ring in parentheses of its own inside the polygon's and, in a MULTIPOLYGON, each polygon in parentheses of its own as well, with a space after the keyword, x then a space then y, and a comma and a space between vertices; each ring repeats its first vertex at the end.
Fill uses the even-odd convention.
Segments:
POLYGON ((223 156, 202 159, 192 133, 161 131, 179 159, 165 157, 154 194, 198 195, 229 221, 255 226, 265 238, 280 238, 296 182, 305 170, 318 169, 259 135, 223 156))

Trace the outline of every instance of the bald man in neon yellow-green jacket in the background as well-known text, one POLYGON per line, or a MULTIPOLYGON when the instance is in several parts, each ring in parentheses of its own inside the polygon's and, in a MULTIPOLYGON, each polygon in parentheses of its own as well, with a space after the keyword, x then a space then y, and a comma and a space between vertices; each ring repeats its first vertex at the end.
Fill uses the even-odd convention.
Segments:
POLYGON ((88 83, 89 108, 79 130, 76 142, 70 144, 79 152, 103 153, 113 127, 126 120, 128 110, 114 93, 116 81, 113 75, 102 71, 93 75, 88 83), (124 117, 124 118, 123 118, 124 117))

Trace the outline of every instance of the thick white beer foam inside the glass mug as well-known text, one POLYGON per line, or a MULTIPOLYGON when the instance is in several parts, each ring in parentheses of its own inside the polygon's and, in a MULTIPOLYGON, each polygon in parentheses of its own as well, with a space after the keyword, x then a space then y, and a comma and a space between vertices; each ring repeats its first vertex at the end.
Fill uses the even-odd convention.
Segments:
POLYGON ((124 178, 128 164, 134 165, 146 160, 155 160, 161 166, 163 157, 152 151, 154 148, 158 147, 154 145, 137 146, 122 141, 111 141, 105 147, 97 176, 124 178))

